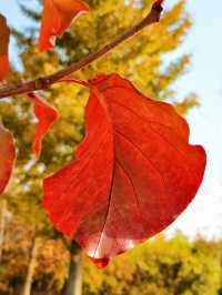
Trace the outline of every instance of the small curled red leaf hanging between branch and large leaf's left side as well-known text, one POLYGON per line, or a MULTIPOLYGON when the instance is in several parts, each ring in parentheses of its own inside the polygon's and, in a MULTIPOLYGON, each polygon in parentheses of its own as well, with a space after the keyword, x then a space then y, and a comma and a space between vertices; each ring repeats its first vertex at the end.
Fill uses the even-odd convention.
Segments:
POLYGON ((41 154, 42 140, 51 125, 58 119, 58 112, 36 93, 31 92, 28 95, 33 100, 33 112, 39 120, 36 130, 36 138, 32 144, 33 153, 36 153, 37 157, 39 157, 41 154))

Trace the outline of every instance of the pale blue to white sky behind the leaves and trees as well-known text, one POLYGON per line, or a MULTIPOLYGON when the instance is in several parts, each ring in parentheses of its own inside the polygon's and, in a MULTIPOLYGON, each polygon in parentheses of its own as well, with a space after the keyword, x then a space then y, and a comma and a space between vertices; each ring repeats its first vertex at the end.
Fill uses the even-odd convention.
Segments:
MULTIPOLYGON (((10 24, 22 28, 24 22, 17 2, 0 0, 0 12, 8 17, 10 24)), ((20 2, 30 4, 30 0, 20 2)), ((165 6, 169 8, 175 2, 165 0, 165 6)), ((222 236, 222 1, 188 0, 186 11, 193 27, 180 52, 190 53, 192 64, 174 89, 179 98, 195 92, 201 99, 201 108, 191 111, 188 120, 191 142, 206 150, 208 167, 195 200, 168 233, 180 228, 190 236, 201 233, 219 237, 222 236)), ((14 60, 13 43, 10 52, 14 60)))

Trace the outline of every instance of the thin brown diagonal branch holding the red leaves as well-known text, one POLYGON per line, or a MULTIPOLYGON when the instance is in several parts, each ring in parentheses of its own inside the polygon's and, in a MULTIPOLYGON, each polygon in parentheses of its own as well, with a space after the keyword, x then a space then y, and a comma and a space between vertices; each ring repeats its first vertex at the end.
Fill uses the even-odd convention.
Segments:
POLYGON ((17 95, 17 94, 22 94, 22 93, 28 93, 31 91, 48 89, 50 85, 58 82, 60 79, 67 75, 70 75, 71 73, 77 72, 80 69, 89 65, 91 62, 104 57, 108 52, 110 52, 117 45, 121 44, 125 40, 129 40, 131 37, 140 32, 143 28, 154 22, 159 22, 161 11, 162 11, 162 6, 159 3, 159 1, 157 1, 153 4, 150 13, 142 21, 140 21, 134 27, 128 29, 122 35, 118 37, 113 42, 107 44, 105 47, 98 50, 97 52, 90 53, 89 55, 81 59, 80 61, 74 62, 68 68, 60 70, 51 75, 47 75, 44 78, 39 78, 30 82, 24 82, 24 83, 20 83, 17 85, 6 87, 6 88, 0 89, 0 99, 17 95))

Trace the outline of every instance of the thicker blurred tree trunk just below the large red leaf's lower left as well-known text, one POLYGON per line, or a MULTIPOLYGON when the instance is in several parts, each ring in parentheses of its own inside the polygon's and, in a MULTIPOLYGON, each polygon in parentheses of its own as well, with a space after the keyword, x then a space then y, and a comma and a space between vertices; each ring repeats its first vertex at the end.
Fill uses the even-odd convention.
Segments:
POLYGON ((73 242, 71 246, 71 263, 69 278, 67 282, 64 295, 82 294, 82 255, 79 246, 73 242))

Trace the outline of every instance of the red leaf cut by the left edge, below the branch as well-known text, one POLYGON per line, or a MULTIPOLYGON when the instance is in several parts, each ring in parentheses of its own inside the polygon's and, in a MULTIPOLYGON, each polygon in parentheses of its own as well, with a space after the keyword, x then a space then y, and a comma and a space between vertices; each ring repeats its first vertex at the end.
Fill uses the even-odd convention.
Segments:
POLYGON ((13 136, 0 124, 0 194, 7 186, 13 170, 16 149, 13 136))

